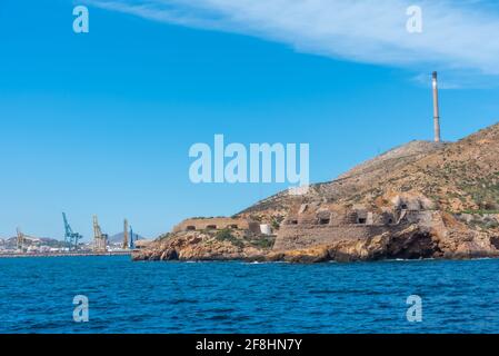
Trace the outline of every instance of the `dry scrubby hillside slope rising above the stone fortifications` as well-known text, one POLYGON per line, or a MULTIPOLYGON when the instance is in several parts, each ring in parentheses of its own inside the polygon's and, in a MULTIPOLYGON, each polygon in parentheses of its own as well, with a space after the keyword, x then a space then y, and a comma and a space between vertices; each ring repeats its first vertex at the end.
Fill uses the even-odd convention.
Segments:
POLYGON ((380 205, 397 192, 421 194, 440 210, 499 210, 499 123, 453 144, 412 141, 359 165, 305 196, 286 191, 240 212, 282 218, 301 202, 380 205))

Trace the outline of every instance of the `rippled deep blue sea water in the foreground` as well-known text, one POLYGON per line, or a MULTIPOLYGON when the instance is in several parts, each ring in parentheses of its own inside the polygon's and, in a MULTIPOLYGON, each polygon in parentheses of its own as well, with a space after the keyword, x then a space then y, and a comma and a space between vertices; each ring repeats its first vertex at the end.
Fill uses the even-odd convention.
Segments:
POLYGON ((498 333, 499 260, 0 259, 1 333, 498 333), (89 322, 74 323, 76 295, 89 322), (422 298, 409 323, 408 296, 422 298))

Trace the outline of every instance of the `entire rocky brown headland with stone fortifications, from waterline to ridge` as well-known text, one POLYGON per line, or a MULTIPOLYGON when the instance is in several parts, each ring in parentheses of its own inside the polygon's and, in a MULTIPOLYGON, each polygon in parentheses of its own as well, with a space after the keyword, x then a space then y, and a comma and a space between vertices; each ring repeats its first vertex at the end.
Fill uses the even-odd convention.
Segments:
POLYGON ((271 224, 273 246, 239 231, 179 233, 138 259, 376 260, 499 257, 499 125, 453 144, 412 141, 238 214, 271 224))

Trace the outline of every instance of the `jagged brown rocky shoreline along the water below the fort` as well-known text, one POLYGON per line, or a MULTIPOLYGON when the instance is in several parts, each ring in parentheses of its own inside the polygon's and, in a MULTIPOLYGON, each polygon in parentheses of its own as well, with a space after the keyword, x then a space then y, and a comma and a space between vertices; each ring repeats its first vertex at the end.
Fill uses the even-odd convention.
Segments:
POLYGON ((485 231, 430 231, 408 225, 396 234, 368 239, 338 240, 301 249, 275 250, 251 245, 248 240, 220 240, 209 233, 180 233, 133 251, 133 260, 179 261, 369 261, 385 259, 471 259, 498 258, 498 237, 485 231), (496 244, 496 245, 495 245, 496 244))

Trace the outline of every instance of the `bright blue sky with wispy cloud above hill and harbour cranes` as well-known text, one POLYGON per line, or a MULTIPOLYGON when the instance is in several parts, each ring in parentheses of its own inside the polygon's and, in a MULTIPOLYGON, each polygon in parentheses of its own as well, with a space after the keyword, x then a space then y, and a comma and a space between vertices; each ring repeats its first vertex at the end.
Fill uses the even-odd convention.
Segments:
POLYGON ((157 237, 287 186, 189 179, 189 148, 310 145, 327 181, 398 145, 498 122, 496 1, 50 0, 0 2, 0 237, 157 237), (89 9, 89 33, 72 10, 89 9), (423 31, 406 30, 407 7, 423 31))

